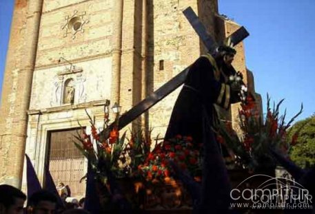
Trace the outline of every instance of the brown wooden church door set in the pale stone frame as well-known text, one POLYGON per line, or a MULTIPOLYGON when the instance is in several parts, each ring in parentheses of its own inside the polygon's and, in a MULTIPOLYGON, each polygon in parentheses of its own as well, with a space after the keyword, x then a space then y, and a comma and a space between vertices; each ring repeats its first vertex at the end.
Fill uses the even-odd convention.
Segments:
POLYGON ((75 147, 74 142, 78 142, 75 135, 77 130, 68 129, 61 131, 50 131, 50 153, 49 170, 54 180, 70 187, 71 197, 78 200, 85 195, 85 181, 79 182, 85 175, 84 156, 75 147))

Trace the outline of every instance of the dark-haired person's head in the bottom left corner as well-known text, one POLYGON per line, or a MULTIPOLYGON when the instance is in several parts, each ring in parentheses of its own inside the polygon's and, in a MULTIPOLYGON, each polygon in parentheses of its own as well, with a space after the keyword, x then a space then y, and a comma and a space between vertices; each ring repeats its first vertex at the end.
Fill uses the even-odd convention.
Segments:
POLYGON ((14 186, 0 185, 0 213, 21 214, 26 195, 14 186))

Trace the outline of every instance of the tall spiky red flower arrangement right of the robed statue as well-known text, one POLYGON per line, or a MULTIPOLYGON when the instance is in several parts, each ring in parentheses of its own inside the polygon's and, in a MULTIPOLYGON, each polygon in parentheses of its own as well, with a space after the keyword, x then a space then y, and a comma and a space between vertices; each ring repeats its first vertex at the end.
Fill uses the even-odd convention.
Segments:
POLYGON ((287 129, 302 113, 303 105, 298 114, 286 123, 285 114, 281 115, 279 112, 282 103, 283 100, 277 105, 274 104, 271 109, 270 97, 267 95, 267 114, 263 119, 253 96, 249 94, 239 110, 241 133, 237 135, 226 125, 219 125, 219 142, 230 149, 236 166, 247 169, 275 167, 269 149, 274 148, 287 154, 289 148, 294 145, 294 139, 292 145, 287 142, 287 129))

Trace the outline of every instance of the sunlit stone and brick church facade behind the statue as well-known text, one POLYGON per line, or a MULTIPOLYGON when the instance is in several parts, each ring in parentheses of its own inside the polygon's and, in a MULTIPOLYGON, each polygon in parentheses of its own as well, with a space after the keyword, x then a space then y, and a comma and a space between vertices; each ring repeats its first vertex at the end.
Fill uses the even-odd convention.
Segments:
MULTIPOLYGON (((16 0, 1 100, 0 183, 26 186, 24 153, 41 182, 46 167, 55 182, 78 182, 86 162, 72 136, 79 123, 88 131, 85 109, 102 127, 106 100, 128 111, 205 53, 182 13, 189 6, 216 41, 240 27, 219 15, 216 0, 16 0)), ((243 43, 236 50, 233 65, 254 92, 243 43)), ((128 129, 163 136, 178 93, 128 129)), ((237 128, 238 105, 225 115, 237 128)))

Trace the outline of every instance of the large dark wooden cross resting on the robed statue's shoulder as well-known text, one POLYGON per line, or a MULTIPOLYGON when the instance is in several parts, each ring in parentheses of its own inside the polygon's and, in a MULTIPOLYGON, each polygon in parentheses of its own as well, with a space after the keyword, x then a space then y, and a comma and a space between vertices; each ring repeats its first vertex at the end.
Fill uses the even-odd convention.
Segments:
MULTIPOLYGON (((190 24, 192 25, 192 28, 196 31, 196 33, 201 38, 201 41, 203 41, 203 44, 205 47, 207 47, 207 50, 211 53, 213 52, 218 45, 214 42, 212 37, 207 34, 205 30, 205 26, 197 15, 194 13, 194 10, 192 8, 187 8, 183 11, 183 14, 185 14, 185 17, 188 19, 190 24)), ((237 45, 243 39, 245 39, 248 36, 247 30, 245 30, 244 27, 239 28, 234 32, 231 36, 231 42, 234 45, 237 45)), ((123 129, 126 125, 128 125, 132 120, 136 119, 138 116, 143 114, 145 111, 148 111, 152 106, 154 106, 156 103, 159 103, 160 100, 165 98, 168 94, 172 93, 175 89, 177 89, 179 86, 183 85, 185 78, 187 76, 189 67, 185 68, 182 72, 174 76, 170 81, 165 83, 163 86, 161 86, 159 89, 157 89, 155 92, 150 94, 147 98, 142 100, 140 103, 132 107, 129 111, 127 111, 125 114, 123 114, 119 118, 118 122, 118 129, 123 129)), ((114 127, 114 125, 117 124, 116 122, 112 123, 110 125, 110 129, 114 127)))

